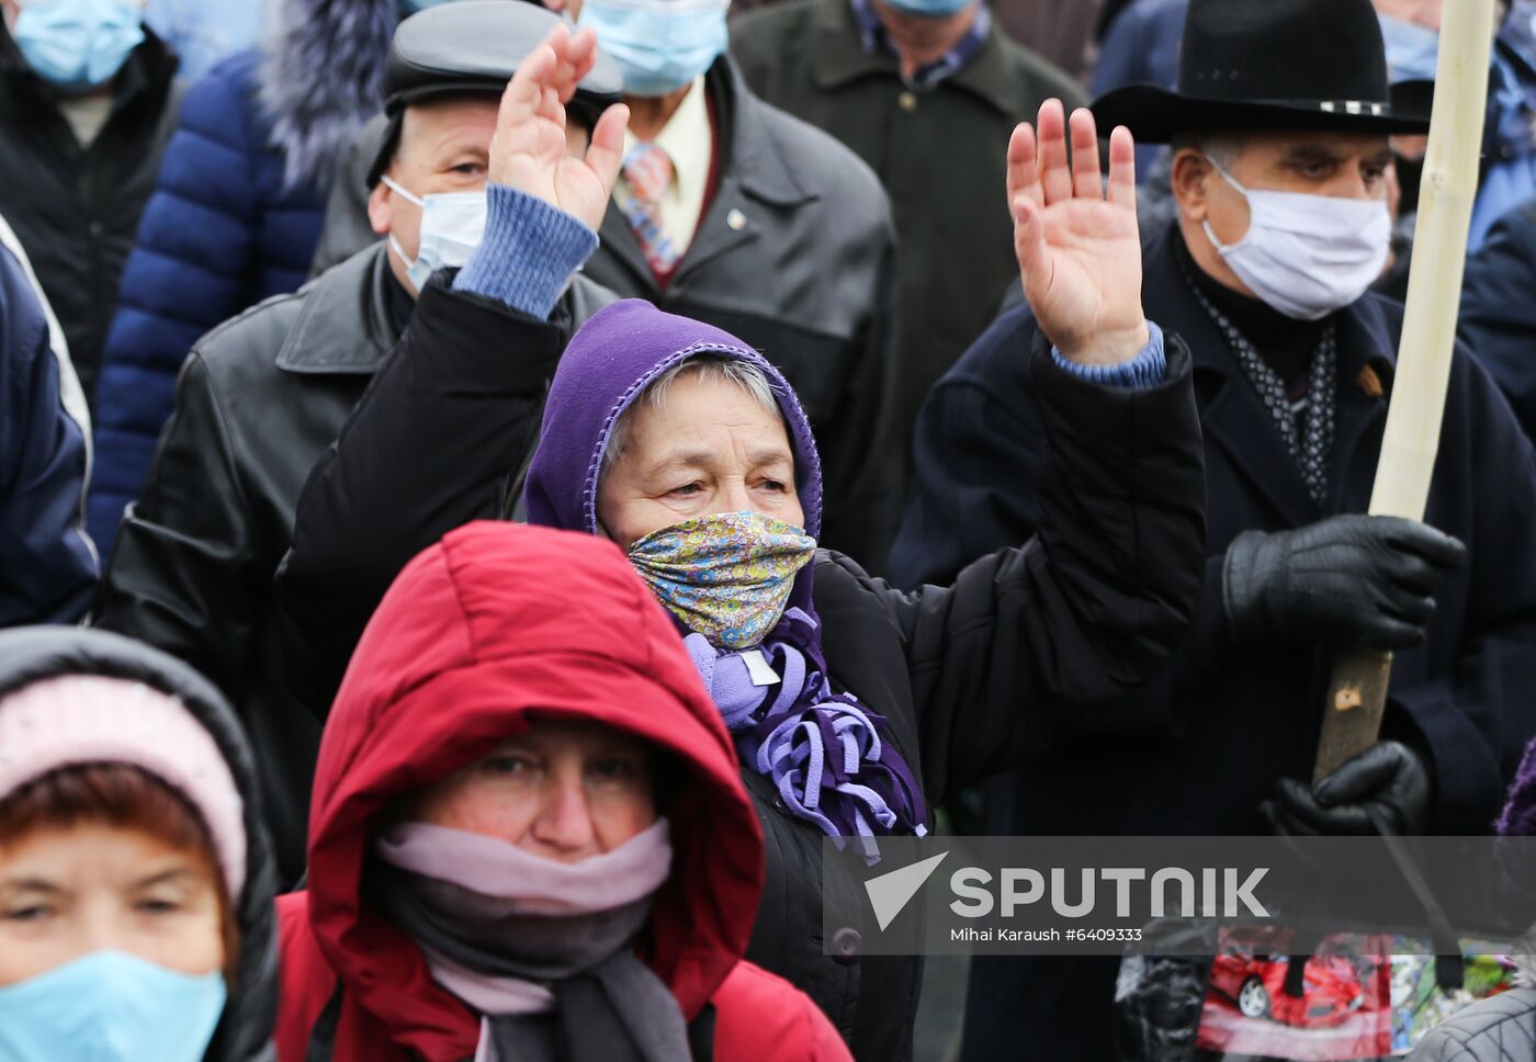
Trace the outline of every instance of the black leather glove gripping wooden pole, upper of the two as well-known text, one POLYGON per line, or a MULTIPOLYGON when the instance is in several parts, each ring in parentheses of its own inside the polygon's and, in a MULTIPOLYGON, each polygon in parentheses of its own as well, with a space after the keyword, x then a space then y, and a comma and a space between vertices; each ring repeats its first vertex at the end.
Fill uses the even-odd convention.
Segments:
POLYGON ((1243 532, 1221 596, 1241 642, 1327 641, 1407 649, 1424 639, 1435 593, 1467 547, 1428 524, 1332 516, 1289 532, 1243 532))

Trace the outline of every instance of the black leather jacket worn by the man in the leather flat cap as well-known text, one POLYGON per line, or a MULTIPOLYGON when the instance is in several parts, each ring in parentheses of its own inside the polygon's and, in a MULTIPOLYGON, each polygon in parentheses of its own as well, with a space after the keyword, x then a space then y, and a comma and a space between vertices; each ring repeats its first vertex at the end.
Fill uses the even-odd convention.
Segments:
MULTIPOLYGON (((573 292, 564 306, 582 314, 611 301, 587 281, 573 292)), ((319 722, 283 679, 272 575, 310 467, 399 340, 399 300, 378 243, 203 337, 103 581, 97 626, 180 656, 235 702, 286 882, 304 870, 319 722)))

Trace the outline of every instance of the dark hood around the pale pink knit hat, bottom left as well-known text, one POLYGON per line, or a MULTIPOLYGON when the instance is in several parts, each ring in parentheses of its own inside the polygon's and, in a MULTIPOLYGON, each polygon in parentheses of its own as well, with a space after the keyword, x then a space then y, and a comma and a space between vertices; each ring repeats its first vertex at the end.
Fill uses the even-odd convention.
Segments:
POLYGON ((169 693, 207 730, 229 764, 244 802, 246 887, 232 907, 240 930, 235 984, 204 1062, 275 1062, 278 1013, 276 864, 267 836, 261 785, 250 744, 229 704, 207 679, 127 638, 72 627, 0 632, 0 698, 58 675, 123 678, 169 693))

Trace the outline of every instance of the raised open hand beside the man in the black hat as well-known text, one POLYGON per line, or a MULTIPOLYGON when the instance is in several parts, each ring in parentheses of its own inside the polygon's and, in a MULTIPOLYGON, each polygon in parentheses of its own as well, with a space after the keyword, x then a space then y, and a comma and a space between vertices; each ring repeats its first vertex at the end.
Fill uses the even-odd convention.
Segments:
POLYGON ((1040 108, 1038 134, 1020 123, 1008 144, 1008 201, 1025 298, 1061 357, 1080 364, 1130 361, 1147 344, 1141 312, 1135 143, 1109 138, 1109 197, 1098 131, 1072 112, 1072 158, 1060 100, 1040 108))

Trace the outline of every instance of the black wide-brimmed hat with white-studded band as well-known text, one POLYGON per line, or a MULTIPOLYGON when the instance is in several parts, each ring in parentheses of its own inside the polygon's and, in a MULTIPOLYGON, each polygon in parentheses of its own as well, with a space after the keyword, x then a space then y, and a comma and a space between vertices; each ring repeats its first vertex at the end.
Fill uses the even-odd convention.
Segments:
POLYGON ((1190 0, 1178 88, 1129 85, 1092 106, 1144 143, 1203 129, 1422 134, 1393 106, 1370 0, 1190 0))

